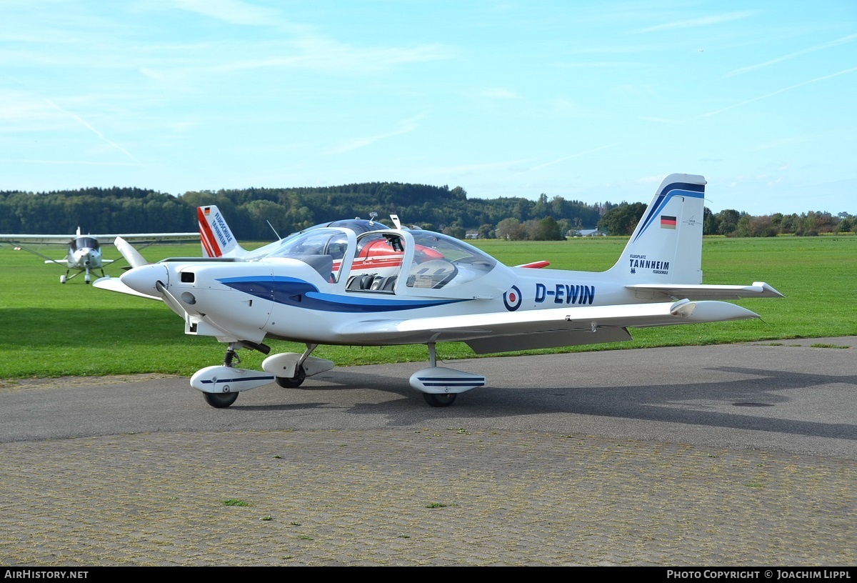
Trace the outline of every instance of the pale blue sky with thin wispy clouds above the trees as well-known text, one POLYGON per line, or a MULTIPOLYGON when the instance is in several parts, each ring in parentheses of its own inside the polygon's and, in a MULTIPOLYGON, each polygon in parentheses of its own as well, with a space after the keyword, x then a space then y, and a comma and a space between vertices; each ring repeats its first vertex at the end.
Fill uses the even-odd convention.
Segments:
POLYGON ((5 190, 647 202, 686 172, 714 212, 857 214, 855 104, 854 0, 0 0, 5 190))

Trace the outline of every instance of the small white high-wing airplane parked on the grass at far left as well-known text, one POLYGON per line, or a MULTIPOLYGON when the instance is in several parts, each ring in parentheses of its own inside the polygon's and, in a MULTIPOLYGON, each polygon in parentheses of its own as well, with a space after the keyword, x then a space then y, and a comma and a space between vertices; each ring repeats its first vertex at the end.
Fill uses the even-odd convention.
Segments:
POLYGON ((166 241, 192 241, 199 239, 200 234, 196 232, 185 233, 140 233, 132 235, 84 235, 81 234, 81 227, 77 227, 75 235, 0 235, 0 243, 12 243, 16 249, 23 249, 33 255, 39 255, 45 259, 45 263, 56 263, 66 267, 65 275, 59 276, 59 282, 64 284, 69 279, 74 279, 75 276, 85 273, 83 281, 89 283, 91 277, 90 272, 98 270, 101 272, 101 277, 105 276, 104 267, 110 265, 117 259, 105 259, 101 256, 101 244, 99 239, 108 239, 111 242, 116 237, 123 237, 126 241, 134 243, 158 243, 166 241), (70 241, 69 241, 70 239, 70 241), (64 259, 51 259, 47 255, 42 255, 35 249, 28 249, 24 243, 30 244, 49 244, 68 245, 69 250, 64 259), (75 273, 70 272, 74 271, 75 273))

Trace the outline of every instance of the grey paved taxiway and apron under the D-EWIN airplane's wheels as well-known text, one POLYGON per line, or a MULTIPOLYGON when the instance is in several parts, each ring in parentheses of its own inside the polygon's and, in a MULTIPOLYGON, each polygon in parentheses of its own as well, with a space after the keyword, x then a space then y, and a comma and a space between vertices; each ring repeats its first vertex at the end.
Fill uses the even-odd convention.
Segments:
POLYGON ((0 385, 5 565, 857 563, 857 337, 0 385))

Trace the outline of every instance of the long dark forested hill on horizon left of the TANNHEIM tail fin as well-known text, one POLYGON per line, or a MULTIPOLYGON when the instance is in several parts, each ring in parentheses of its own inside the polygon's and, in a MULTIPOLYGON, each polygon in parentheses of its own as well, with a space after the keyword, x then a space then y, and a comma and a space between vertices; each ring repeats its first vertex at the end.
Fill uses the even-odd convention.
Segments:
POLYGON ((0 232, 101 233, 195 231, 196 207, 216 204, 239 239, 269 240, 271 225, 285 235, 311 225, 369 218, 389 223, 396 213, 405 225, 437 231, 494 231, 503 219, 541 220, 548 216, 567 228, 594 228, 601 205, 542 195, 468 199, 464 189, 407 183, 362 183, 321 188, 230 189, 173 196, 146 189, 79 189, 53 192, 0 192, 0 232))

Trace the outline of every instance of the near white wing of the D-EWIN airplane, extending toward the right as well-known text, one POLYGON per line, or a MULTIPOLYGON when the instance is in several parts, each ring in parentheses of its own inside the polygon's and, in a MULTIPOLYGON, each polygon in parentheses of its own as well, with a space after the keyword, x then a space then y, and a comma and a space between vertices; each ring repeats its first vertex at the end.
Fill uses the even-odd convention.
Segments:
POLYGON ((477 354, 632 340, 626 328, 758 318, 726 302, 678 302, 576 306, 549 310, 365 320, 338 330, 340 339, 405 342, 465 342, 477 354))

